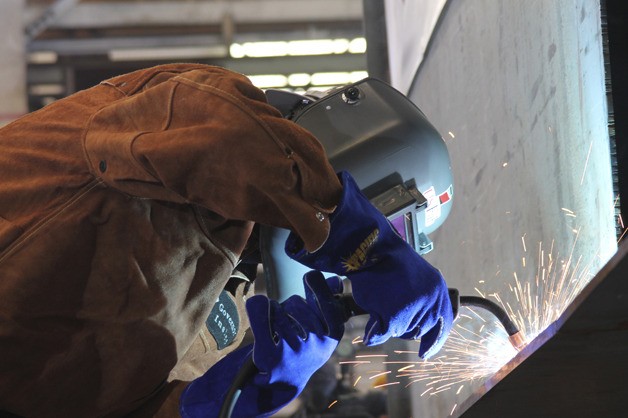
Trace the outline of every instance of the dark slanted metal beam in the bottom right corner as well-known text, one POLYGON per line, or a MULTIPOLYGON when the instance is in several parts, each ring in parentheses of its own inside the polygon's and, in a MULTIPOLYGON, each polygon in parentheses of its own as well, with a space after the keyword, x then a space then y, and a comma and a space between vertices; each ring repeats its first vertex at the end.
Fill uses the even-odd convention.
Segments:
POLYGON ((460 405, 462 416, 626 416, 627 274, 624 244, 551 327, 460 405))

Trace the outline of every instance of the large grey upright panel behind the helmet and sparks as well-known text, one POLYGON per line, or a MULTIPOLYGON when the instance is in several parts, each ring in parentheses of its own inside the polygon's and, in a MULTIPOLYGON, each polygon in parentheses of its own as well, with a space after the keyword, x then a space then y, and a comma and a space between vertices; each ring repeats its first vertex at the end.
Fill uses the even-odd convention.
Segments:
MULTIPOLYGON (((426 257, 451 287, 514 307, 539 248, 582 257, 587 277, 615 252, 598 0, 450 0, 409 96, 452 157, 454 206, 426 257)), ((446 417, 481 386, 404 393, 413 416, 446 417)))

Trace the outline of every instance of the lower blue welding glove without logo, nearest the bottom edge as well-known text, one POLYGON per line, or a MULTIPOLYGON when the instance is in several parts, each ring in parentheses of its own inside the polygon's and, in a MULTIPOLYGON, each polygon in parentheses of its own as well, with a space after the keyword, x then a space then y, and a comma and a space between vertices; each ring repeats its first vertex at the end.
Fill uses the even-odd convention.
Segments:
POLYGON ((301 393, 344 333, 343 311, 333 296, 342 292, 340 278, 325 280, 312 271, 303 281, 305 299, 292 296, 277 303, 258 295, 247 301, 253 346, 230 353, 191 382, 181 395, 182 417, 216 417, 251 354, 257 372, 242 388, 233 418, 270 416, 301 393))

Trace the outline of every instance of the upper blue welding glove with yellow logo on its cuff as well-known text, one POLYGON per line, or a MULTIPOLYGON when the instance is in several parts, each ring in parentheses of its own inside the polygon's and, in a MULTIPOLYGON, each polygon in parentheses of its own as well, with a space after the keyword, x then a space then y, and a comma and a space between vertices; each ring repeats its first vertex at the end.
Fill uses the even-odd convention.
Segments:
POLYGON ((366 345, 391 337, 421 338, 419 355, 430 357, 445 343, 453 322, 442 275, 394 231, 348 173, 339 177, 343 196, 325 244, 309 253, 290 234, 286 252, 310 268, 351 280, 356 303, 370 314, 366 345))

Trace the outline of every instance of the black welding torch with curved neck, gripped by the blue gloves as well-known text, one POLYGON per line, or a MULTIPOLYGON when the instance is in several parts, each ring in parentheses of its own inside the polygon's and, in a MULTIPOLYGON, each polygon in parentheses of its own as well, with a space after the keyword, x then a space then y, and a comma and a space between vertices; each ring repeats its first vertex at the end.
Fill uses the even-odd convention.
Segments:
MULTIPOLYGON (((512 344, 512 346, 517 350, 521 351, 523 346, 525 345, 525 338, 523 333, 517 328, 517 325, 510 319, 508 314, 501 306, 496 304, 495 302, 482 298, 479 296, 460 296, 460 292, 458 289, 449 288, 449 299, 451 300, 451 307, 454 313, 454 319, 458 317, 458 311, 460 310, 460 306, 474 306, 478 308, 485 309, 492 313, 502 324, 506 333, 508 334, 508 340, 512 344)), ((342 293, 339 295, 335 295, 336 300, 340 308, 342 309, 344 321, 347 322, 349 319, 354 316, 366 315, 364 309, 362 309, 353 299, 353 295, 351 293, 342 293)), ((241 388, 244 384, 253 378, 253 376, 257 373, 257 367, 255 363, 253 363, 253 356, 249 357, 248 360, 242 365, 242 368, 238 372, 233 384, 229 388, 227 395, 225 397, 225 401, 220 408, 220 412, 218 414, 219 418, 229 418, 231 416, 231 411, 233 410, 236 401, 238 400, 238 396, 240 394, 241 388)))

